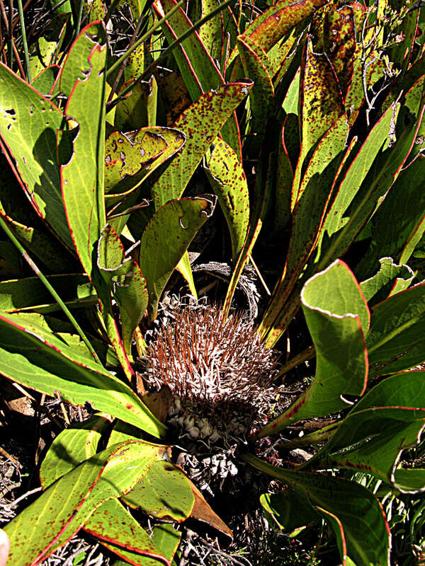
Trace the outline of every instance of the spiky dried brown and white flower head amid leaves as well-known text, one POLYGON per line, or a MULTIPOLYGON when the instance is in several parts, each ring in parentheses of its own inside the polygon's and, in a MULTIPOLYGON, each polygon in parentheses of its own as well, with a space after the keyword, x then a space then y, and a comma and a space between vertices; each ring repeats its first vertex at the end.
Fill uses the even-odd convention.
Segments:
POLYGON ((173 318, 155 331, 148 374, 174 394, 174 422, 193 439, 244 434, 270 398, 276 354, 254 323, 238 314, 225 319, 217 306, 176 308, 173 318))

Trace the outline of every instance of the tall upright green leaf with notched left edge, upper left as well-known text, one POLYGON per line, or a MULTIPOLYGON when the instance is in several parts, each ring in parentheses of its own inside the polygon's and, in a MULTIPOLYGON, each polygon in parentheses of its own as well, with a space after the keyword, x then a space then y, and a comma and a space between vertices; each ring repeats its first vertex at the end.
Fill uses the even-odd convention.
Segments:
MULTIPOLYGON (((92 27, 97 30, 98 25, 92 27)), ((86 40, 91 42, 89 30, 85 33, 86 40)), ((106 224, 103 196, 106 45, 102 45, 103 40, 104 32, 100 40, 92 43, 89 58, 84 62, 84 80, 77 79, 69 95, 65 112, 77 121, 78 133, 73 140, 72 157, 60 172, 72 241, 91 279, 96 265, 93 261, 96 243, 106 224)))

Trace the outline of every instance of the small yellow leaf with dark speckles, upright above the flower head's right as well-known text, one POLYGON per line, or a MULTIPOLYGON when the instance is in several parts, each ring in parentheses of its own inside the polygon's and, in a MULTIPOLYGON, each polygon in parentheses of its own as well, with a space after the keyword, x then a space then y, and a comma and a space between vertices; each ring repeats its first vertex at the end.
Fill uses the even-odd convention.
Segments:
POLYGON ((236 262, 249 225, 249 192, 244 169, 233 149, 216 138, 205 171, 225 214, 232 239, 232 258, 236 262))

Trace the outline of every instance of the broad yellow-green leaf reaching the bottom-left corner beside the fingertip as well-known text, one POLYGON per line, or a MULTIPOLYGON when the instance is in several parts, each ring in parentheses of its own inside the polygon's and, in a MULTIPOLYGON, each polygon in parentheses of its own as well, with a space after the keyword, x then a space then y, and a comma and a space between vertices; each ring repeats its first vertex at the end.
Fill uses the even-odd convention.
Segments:
POLYGON ((115 444, 62 476, 6 525, 11 564, 33 564, 52 553, 103 501, 130 490, 158 454, 157 446, 141 441, 115 444), (125 473, 130 464, 137 464, 133 474, 125 473))

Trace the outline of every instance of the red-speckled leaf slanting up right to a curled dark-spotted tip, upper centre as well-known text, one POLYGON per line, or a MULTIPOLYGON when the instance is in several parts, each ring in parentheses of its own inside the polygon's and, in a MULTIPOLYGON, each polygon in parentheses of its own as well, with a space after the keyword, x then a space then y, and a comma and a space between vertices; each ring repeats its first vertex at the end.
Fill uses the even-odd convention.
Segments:
POLYGON ((219 86, 200 96, 174 125, 186 134, 186 145, 152 187, 155 207, 180 197, 222 125, 252 87, 251 81, 219 86))

